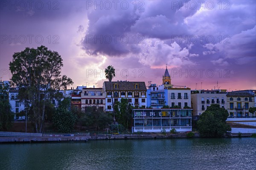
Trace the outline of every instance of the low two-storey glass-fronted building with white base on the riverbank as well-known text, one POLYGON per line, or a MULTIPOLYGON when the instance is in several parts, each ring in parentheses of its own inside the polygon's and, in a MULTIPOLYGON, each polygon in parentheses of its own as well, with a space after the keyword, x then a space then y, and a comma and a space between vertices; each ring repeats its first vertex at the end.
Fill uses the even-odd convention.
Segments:
POLYGON ((192 109, 133 109, 132 132, 192 131, 192 109))

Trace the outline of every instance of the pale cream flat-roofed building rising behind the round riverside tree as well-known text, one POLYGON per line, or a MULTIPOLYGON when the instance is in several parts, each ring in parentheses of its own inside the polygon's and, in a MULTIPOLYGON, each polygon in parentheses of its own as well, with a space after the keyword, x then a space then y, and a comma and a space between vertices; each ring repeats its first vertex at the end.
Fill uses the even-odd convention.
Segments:
POLYGON ((227 90, 195 90, 191 94, 192 115, 201 115, 211 104, 227 109, 227 90))

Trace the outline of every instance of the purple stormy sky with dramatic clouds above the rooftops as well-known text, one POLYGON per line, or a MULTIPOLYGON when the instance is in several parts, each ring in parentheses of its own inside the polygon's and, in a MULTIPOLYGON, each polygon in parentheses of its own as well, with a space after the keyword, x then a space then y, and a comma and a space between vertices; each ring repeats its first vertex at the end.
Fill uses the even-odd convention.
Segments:
MULTIPOLYGON (((44 45, 76 86, 113 81, 256 89, 255 0, 0 1, 0 77, 15 52, 44 45), (217 86, 218 82, 218 86, 217 86)), ((70 87, 72 87, 70 86, 70 87)))

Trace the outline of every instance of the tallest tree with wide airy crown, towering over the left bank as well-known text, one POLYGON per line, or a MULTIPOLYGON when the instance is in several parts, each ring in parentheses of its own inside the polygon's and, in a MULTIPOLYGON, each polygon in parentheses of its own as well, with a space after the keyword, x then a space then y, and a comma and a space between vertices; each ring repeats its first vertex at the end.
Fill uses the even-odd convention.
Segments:
POLYGON ((66 75, 61 76, 62 66, 58 52, 45 46, 16 52, 9 63, 12 85, 19 87, 20 101, 32 107, 31 118, 37 133, 41 133, 44 124, 47 102, 52 101, 58 90, 73 84, 66 75))

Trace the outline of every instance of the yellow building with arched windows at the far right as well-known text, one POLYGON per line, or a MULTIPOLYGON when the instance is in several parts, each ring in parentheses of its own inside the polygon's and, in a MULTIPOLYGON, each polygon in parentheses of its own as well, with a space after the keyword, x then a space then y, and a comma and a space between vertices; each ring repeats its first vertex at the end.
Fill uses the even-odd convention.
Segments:
POLYGON ((248 117, 249 108, 255 105, 254 92, 251 90, 227 92, 227 111, 231 117, 248 117))

